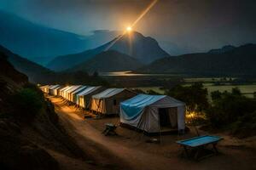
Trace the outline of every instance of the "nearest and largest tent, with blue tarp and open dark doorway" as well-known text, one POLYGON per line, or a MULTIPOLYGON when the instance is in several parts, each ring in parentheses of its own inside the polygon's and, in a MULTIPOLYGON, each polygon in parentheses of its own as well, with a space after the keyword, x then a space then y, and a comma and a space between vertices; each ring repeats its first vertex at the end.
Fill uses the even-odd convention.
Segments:
POLYGON ((139 94, 120 104, 120 122, 147 133, 185 129, 185 104, 166 95, 139 94))

